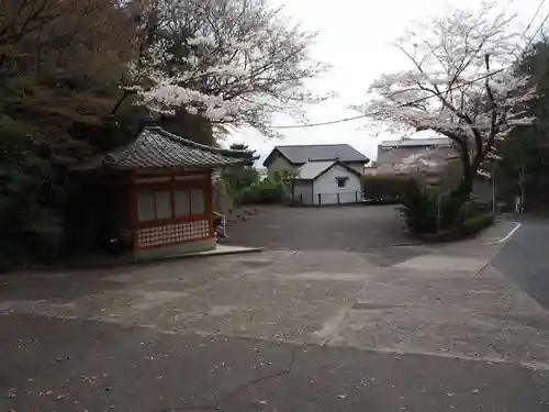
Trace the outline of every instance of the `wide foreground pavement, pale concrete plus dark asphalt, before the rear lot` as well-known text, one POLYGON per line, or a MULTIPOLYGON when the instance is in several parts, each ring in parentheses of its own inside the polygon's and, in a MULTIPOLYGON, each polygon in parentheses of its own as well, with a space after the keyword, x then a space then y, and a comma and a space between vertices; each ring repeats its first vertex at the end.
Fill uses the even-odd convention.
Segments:
POLYGON ((492 261, 513 227, 1 277, 0 411, 548 411, 549 316, 492 261))

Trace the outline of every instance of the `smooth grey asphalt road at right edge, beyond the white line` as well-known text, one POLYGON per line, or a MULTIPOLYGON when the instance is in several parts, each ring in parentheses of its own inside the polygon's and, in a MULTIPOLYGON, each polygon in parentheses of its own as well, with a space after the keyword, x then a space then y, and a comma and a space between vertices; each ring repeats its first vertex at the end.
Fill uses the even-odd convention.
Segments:
POLYGON ((549 310, 549 219, 514 219, 519 229, 492 264, 549 310))

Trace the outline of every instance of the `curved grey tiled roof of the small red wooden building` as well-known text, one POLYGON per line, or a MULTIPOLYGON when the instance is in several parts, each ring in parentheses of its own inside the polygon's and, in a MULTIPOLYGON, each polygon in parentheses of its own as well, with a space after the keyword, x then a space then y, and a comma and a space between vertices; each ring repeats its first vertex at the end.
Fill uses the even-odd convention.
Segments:
MULTIPOLYGON (((226 151, 225 151, 226 153, 226 151)), ((211 168, 240 160, 223 156, 219 149, 188 141, 158 126, 148 126, 128 145, 109 153, 105 166, 121 168, 211 168)))

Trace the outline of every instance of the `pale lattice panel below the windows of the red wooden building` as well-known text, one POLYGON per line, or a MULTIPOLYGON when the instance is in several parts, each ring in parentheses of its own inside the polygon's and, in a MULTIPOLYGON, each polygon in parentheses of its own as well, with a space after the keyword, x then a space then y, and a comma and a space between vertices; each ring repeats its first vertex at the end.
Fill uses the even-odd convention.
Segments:
POLYGON ((189 242, 210 236, 210 222, 206 220, 186 223, 171 223, 163 226, 141 229, 137 231, 139 247, 155 247, 173 243, 189 242))

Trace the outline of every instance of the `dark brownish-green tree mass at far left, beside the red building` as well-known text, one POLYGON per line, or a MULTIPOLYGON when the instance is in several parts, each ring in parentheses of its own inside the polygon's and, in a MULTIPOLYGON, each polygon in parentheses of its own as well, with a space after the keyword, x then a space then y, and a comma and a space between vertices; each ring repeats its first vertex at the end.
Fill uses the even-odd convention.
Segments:
POLYGON ((67 166, 93 154, 90 137, 117 132, 105 119, 134 23, 112 0, 0 0, 0 260, 55 255, 67 166))

